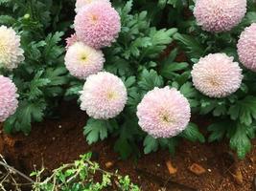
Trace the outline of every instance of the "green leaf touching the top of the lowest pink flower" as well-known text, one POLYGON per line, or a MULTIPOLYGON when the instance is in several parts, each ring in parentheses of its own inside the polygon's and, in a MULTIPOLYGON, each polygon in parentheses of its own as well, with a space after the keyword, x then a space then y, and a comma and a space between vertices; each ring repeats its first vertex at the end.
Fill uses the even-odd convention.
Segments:
POLYGON ((138 84, 143 90, 151 91, 154 87, 163 87, 164 81, 163 77, 158 75, 154 70, 148 71, 145 69, 142 71, 138 84))

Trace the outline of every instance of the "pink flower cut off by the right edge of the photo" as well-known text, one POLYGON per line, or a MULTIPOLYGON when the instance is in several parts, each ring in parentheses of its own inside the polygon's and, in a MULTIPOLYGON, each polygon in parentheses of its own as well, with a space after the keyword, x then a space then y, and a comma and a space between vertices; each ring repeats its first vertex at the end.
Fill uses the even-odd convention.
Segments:
POLYGON ((244 67, 256 72, 256 23, 245 28, 237 47, 239 59, 244 67))

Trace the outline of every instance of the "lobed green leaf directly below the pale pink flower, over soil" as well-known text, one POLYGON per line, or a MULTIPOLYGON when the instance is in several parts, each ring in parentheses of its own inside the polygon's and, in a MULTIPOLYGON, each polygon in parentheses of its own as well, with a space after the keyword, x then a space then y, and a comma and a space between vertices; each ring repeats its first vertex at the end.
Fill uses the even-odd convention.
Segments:
POLYGON ((85 127, 83 127, 83 135, 86 137, 88 144, 97 142, 99 139, 107 138, 108 121, 90 118, 85 127))

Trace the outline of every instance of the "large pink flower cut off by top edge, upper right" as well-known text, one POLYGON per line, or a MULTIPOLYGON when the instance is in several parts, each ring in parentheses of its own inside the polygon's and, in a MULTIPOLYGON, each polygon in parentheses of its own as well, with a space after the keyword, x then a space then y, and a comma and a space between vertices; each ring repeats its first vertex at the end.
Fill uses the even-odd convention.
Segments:
POLYGON ((242 21, 245 12, 246 0, 197 0, 194 15, 203 30, 226 32, 242 21))

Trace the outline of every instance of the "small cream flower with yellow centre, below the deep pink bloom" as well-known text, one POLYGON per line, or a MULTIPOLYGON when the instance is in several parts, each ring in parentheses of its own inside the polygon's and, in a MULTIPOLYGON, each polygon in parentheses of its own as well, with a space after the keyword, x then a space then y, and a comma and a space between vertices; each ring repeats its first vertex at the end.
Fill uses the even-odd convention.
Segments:
POLYGON ((95 50, 82 42, 76 42, 67 50, 65 65, 70 74, 85 79, 90 74, 97 74, 104 68, 105 57, 100 50, 95 50))

